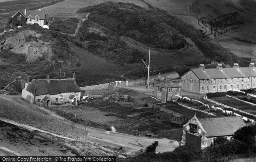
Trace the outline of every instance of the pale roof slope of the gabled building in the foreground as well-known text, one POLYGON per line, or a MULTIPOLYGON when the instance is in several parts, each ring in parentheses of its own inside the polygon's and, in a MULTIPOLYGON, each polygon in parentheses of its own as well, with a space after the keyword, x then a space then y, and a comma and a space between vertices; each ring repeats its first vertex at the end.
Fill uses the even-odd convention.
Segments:
MULTIPOLYGON (((208 118, 206 118, 208 119, 208 118)), ((201 125, 207 131, 207 137, 230 136, 239 128, 246 126, 241 117, 211 117, 209 120, 201 119, 201 125)))

